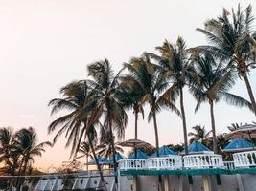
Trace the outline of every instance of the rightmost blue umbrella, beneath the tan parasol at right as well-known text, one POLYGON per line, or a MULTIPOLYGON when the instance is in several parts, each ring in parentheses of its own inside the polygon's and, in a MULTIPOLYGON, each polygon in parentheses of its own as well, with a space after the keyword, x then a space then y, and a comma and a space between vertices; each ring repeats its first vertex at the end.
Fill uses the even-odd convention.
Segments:
POLYGON ((225 152, 240 152, 246 150, 253 150, 253 144, 244 138, 231 140, 223 149, 225 152))

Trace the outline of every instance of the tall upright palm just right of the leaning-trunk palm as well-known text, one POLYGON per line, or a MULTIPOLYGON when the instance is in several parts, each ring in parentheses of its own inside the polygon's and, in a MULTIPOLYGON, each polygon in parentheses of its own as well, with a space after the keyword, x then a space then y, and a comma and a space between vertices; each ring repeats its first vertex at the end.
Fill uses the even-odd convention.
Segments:
MULTIPOLYGON (((87 67, 89 76, 92 76, 93 80, 88 80, 90 87, 94 89, 94 100, 97 101, 97 107, 100 108, 101 117, 103 118, 103 128, 111 135, 111 146, 113 156, 115 156, 114 146, 114 134, 117 138, 123 138, 125 128, 128 122, 128 116, 123 107, 121 101, 117 96, 117 79, 119 74, 114 76, 114 72, 107 59, 98 61, 88 65, 87 67)), ((117 163, 115 158, 114 172, 117 172, 117 163)), ((117 185, 118 179, 115 176, 115 185, 117 185)))

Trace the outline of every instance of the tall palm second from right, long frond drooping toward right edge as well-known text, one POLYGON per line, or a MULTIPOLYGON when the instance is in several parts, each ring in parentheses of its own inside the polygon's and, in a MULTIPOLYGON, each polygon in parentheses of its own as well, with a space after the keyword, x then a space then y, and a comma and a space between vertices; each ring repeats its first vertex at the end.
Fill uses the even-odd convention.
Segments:
POLYGON ((227 70, 222 62, 217 63, 215 58, 209 53, 194 57, 200 82, 195 82, 190 87, 192 95, 198 101, 195 112, 198 111, 201 103, 208 102, 210 105, 211 125, 213 134, 213 149, 217 153, 216 128, 214 117, 214 104, 220 100, 238 107, 251 108, 251 104, 242 98, 228 93, 234 84, 234 78, 230 70, 227 70))

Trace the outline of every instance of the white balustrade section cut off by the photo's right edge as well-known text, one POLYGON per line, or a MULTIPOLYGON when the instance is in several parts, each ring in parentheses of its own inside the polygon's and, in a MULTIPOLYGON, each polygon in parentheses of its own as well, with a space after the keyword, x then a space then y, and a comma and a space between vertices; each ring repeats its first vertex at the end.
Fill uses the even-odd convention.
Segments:
POLYGON ((233 159, 236 168, 255 167, 256 151, 246 151, 242 153, 234 153, 233 159))

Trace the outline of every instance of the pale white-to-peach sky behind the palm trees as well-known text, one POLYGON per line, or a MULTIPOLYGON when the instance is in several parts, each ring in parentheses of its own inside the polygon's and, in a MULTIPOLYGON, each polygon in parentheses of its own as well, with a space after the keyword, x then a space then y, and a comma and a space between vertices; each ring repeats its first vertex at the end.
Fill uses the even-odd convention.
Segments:
MULTIPOLYGON (((237 7, 236 0, 0 0, 0 126, 14 130, 35 127, 39 141, 51 141, 48 102, 59 97, 59 89, 73 80, 87 77, 86 66, 108 58, 117 72, 132 56, 154 52, 165 39, 185 38, 188 47, 206 43, 196 31, 205 20, 216 18, 222 8, 237 7)), ((245 8, 256 1, 241 1, 245 8)), ((256 24, 256 21, 255 21, 256 24)), ((256 96, 256 72, 250 75, 256 96)), ((232 93, 248 98, 244 81, 238 80, 232 93)), ((196 101, 186 92, 185 107, 189 131, 196 124, 210 130, 209 106, 194 113, 196 101)), ((224 103, 215 107, 218 132, 233 122, 256 120, 247 109, 224 103)), ((128 112, 126 139, 133 138, 134 117, 128 112)), ((180 117, 163 111, 157 118, 160 144, 182 141, 180 117)), ((152 123, 139 120, 138 138, 154 144, 152 123)), ((69 159, 65 139, 59 138, 35 166, 59 166, 69 159)))

